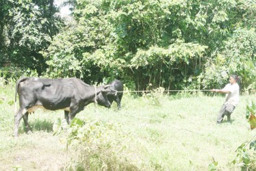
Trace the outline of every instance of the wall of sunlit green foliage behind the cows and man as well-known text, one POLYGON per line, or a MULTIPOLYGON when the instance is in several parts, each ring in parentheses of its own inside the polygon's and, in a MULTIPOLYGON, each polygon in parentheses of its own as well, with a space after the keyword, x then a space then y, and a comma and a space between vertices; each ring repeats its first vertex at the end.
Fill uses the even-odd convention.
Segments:
MULTIPOLYGON (((87 83, 122 79, 136 90, 149 85, 165 89, 221 88, 233 73, 242 77, 243 90, 256 88, 256 3, 253 0, 73 0, 66 3, 73 5, 73 19, 61 27, 59 34, 60 25, 55 22, 51 27, 54 31, 44 29, 44 23, 57 20, 54 15, 34 20, 25 15, 21 23, 29 23, 25 29, 28 31, 15 39, 22 46, 15 51, 1 52, 8 57, 0 59, 10 59, 13 64, 16 60, 29 60, 30 63, 23 63, 25 68, 43 65, 40 72, 45 71, 47 77, 79 77, 87 83), (34 27, 30 21, 39 25, 34 27), (40 57, 42 54, 44 60, 27 55, 27 51, 40 57)), ((29 9, 29 16, 44 14, 41 8, 29 9)), ((3 31, 1 36, 5 37, 3 31)), ((8 47, 17 49, 12 44, 8 47)), ((8 62, 4 64, 10 66, 8 62)))

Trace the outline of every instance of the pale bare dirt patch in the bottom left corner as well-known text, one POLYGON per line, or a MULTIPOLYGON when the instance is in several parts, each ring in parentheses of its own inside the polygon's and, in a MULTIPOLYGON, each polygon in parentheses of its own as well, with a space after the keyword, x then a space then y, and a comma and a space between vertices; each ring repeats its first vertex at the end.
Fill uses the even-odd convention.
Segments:
POLYGON ((66 144, 60 137, 45 132, 21 135, 17 140, 1 137, 9 143, 0 155, 0 170, 62 170, 65 166, 66 144))

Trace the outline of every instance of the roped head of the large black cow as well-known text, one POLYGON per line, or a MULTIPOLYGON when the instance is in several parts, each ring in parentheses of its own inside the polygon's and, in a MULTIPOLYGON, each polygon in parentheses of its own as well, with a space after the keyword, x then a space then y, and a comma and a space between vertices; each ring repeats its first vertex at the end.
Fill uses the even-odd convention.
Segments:
POLYGON ((97 103, 105 107, 110 107, 110 101, 107 98, 107 95, 112 93, 112 90, 108 89, 107 86, 101 86, 99 94, 97 94, 97 103))

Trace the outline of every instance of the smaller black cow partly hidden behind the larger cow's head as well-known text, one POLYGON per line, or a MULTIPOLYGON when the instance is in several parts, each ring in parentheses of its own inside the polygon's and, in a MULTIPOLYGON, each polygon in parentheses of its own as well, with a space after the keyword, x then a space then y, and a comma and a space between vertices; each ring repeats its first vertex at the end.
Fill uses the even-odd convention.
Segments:
MULTIPOLYGON (((110 86, 107 88, 107 90, 110 90, 110 92, 107 92, 107 98, 110 101, 110 104, 115 101, 118 105, 118 110, 121 109, 121 100, 123 97, 123 83, 119 80, 112 81, 110 86)), ((104 105, 104 96, 102 93, 99 93, 97 96, 97 103, 99 105, 104 105)))

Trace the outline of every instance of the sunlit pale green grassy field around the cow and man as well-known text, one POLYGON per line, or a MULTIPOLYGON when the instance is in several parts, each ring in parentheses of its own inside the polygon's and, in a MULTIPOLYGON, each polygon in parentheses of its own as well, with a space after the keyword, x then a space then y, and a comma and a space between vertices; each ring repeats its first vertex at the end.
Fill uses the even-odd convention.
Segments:
MULTIPOLYGON (((232 123, 217 125, 216 117, 224 96, 162 96, 146 98, 124 95, 121 111, 90 104, 76 118, 120 123, 131 139, 129 155, 133 170, 208 170, 218 162, 216 170, 240 170, 229 163, 235 150, 250 140, 251 131, 245 118, 246 104, 256 96, 241 96, 231 115, 232 123)), ((38 109, 29 115, 34 131, 27 135, 20 124, 19 137, 14 139, 14 88, 0 87, 0 170, 64 170, 77 150, 66 150, 67 131, 53 136, 53 122, 64 118, 64 111, 38 109)), ((126 151, 127 151, 126 150, 126 151)), ((112 168, 115 169, 115 168, 112 168)), ((112 170, 110 169, 110 170, 112 170)))

